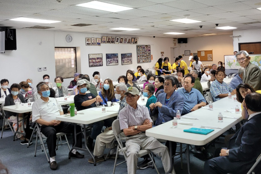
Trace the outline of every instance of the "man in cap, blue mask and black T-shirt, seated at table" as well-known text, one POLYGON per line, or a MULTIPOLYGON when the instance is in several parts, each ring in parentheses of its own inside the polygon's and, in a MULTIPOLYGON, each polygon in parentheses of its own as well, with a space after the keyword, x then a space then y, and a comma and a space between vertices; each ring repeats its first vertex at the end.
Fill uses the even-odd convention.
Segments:
MULTIPOLYGON (((90 88, 90 83, 86 79, 79 80, 77 82, 77 88, 79 94, 74 96, 74 103, 77 111, 81 111, 84 109, 96 107, 96 102, 99 104, 103 102, 102 98, 98 96, 94 96, 92 93, 86 93, 86 91, 90 88)), ((103 126, 110 127, 112 126, 113 118, 108 118, 102 121, 98 121, 92 124, 92 133, 91 136, 87 139, 87 147, 89 150, 93 149, 93 139, 101 133, 103 126)))

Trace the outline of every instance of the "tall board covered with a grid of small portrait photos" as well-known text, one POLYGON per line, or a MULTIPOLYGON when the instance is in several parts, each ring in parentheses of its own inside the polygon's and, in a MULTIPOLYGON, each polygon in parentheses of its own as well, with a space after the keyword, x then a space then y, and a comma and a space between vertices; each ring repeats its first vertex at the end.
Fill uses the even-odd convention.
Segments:
POLYGON ((148 63, 151 62, 150 45, 137 45, 137 62, 148 63))

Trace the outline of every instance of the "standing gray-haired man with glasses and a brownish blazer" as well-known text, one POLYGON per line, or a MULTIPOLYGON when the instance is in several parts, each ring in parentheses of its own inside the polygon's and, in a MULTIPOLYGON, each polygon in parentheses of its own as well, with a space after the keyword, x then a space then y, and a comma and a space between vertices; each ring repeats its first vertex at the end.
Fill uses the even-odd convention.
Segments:
POLYGON ((250 62, 248 52, 242 50, 236 53, 236 58, 243 70, 243 83, 252 86, 255 91, 261 90, 261 71, 258 66, 250 62))

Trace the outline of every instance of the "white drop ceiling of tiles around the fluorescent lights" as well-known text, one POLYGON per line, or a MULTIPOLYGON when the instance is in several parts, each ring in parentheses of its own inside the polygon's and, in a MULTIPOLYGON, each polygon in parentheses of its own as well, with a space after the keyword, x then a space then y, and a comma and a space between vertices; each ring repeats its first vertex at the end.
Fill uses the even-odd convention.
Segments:
POLYGON ((209 33, 232 34, 231 30, 216 29, 217 23, 218 27, 237 27, 235 30, 261 28, 261 11, 256 9, 261 7, 261 0, 98 0, 133 8, 117 13, 75 6, 90 1, 92 0, 62 0, 59 3, 56 0, 0 0, 0 27, 44 26, 53 27, 47 30, 56 31, 156 37, 203 37, 203 34, 209 33), (184 18, 184 15, 202 22, 183 24, 169 21, 184 18), (9 20, 17 17, 62 22, 42 24, 9 20), (78 23, 91 25, 71 26, 78 23), (116 27, 139 28, 140 30, 123 32, 110 30, 116 27), (175 36, 163 34, 164 32, 185 34, 175 36))

